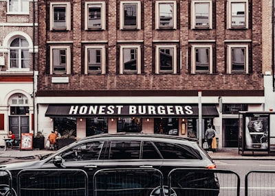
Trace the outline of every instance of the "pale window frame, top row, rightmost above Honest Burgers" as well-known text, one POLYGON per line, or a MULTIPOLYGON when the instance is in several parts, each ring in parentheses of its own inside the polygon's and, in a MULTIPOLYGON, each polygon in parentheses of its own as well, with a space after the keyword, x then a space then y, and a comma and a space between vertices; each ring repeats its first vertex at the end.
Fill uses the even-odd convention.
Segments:
POLYGON ((227 5, 227 16, 228 16, 228 23, 227 28, 228 29, 248 29, 248 0, 228 0, 227 5), (245 25, 232 25, 232 3, 245 3, 245 25))

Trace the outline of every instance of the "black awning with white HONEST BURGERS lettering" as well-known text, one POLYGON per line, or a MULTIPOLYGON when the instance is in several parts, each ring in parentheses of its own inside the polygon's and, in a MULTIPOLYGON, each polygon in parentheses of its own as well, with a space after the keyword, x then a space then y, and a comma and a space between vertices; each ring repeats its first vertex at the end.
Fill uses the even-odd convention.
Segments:
MULTIPOLYGON (((206 105, 202 117, 219 117, 216 106, 206 105)), ((199 117, 192 104, 50 104, 46 117, 199 117)))

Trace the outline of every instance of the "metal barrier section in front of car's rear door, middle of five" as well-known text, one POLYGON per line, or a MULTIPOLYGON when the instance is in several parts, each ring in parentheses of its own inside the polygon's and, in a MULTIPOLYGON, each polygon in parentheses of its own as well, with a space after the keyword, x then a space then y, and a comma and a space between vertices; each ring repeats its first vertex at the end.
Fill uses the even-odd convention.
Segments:
POLYGON ((158 169, 101 169, 94 174, 94 196, 146 196, 162 194, 163 175, 158 169))

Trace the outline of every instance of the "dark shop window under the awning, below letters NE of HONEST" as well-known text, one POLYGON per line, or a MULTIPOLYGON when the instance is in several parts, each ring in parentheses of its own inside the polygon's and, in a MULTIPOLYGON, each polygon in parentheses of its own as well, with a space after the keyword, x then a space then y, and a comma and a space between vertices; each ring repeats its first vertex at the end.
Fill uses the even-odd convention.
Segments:
POLYGON ((86 136, 108 132, 108 118, 90 118, 86 120, 86 136))

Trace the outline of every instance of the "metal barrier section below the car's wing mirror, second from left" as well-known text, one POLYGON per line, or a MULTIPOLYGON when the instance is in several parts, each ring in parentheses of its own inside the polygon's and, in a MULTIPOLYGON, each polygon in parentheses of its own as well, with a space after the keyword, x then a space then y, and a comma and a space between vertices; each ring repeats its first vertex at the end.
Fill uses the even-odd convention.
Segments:
POLYGON ((88 175, 81 169, 25 169, 17 182, 19 196, 88 195, 88 175))

